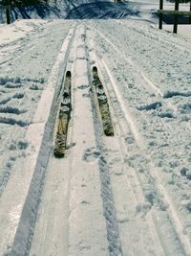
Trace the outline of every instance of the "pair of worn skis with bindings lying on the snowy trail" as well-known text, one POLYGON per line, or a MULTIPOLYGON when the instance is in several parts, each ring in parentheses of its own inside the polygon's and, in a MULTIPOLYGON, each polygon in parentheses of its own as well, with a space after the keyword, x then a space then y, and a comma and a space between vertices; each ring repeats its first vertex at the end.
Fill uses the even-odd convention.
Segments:
MULTIPOLYGON (((68 126, 71 119, 71 71, 66 72, 64 90, 61 95, 59 112, 56 122, 56 133, 53 153, 55 157, 63 157, 67 147, 68 126)), ((103 131, 106 136, 114 136, 112 118, 103 85, 98 77, 96 66, 93 67, 93 84, 96 87, 96 98, 102 120, 103 131)))

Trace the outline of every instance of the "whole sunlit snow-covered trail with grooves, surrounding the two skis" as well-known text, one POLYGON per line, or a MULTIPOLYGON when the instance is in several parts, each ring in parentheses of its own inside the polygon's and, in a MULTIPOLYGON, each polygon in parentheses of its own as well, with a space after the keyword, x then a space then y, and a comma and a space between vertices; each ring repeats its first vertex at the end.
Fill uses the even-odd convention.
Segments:
POLYGON ((10 76, 0 74, 0 131, 10 137, 1 146, 0 254, 191 255, 191 43, 134 21, 27 24, 33 31, 15 36, 16 60, 6 50, 12 42, 1 59, 10 76), (103 132, 94 66, 113 137, 103 132), (54 124, 67 71, 72 118, 58 159, 54 124))

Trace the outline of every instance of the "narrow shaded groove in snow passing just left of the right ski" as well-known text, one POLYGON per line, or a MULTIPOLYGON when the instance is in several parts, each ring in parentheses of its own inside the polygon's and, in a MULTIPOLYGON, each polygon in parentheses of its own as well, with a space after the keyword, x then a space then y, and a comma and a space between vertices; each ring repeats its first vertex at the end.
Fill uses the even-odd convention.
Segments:
MULTIPOLYGON (((90 58, 90 57, 89 57, 90 58)), ((93 75, 91 66, 89 66, 89 81, 92 83, 93 75)), ((93 91, 91 95, 93 117, 95 125, 95 135, 96 135, 96 147, 101 151, 101 155, 98 158, 100 181, 101 181, 101 197, 103 202, 104 217, 107 226, 107 237, 109 242, 109 251, 111 256, 123 255, 121 242, 118 232, 117 216, 115 202, 113 198, 113 192, 111 187, 111 180, 109 174, 109 167, 107 163, 107 157, 104 153, 105 146, 102 139, 103 130, 100 121, 100 114, 98 113, 98 103, 96 99, 96 91, 94 86, 92 86, 93 91)))

